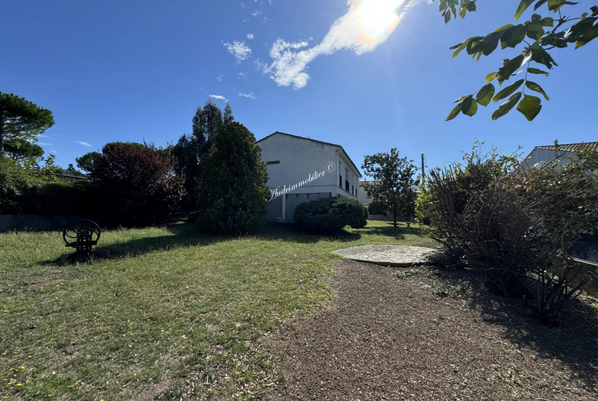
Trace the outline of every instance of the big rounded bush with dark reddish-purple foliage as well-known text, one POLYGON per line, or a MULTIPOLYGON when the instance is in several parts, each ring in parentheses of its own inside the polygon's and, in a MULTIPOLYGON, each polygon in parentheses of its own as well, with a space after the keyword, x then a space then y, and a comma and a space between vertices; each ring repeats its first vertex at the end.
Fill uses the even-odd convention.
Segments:
POLYGON ((89 177, 94 200, 122 224, 147 224, 178 212, 184 179, 174 173, 169 149, 147 143, 112 142, 94 154, 89 177))

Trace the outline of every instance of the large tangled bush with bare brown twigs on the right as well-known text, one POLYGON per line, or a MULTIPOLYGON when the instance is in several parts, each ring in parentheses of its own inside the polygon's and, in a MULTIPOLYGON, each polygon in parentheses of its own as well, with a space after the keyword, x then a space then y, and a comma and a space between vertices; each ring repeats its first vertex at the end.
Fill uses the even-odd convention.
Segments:
POLYGON ((432 172, 420 194, 418 218, 428 234, 489 286, 523 297, 545 321, 557 320, 594 273, 568 253, 598 229, 598 154, 580 152, 530 171, 517 158, 472 154, 432 172))

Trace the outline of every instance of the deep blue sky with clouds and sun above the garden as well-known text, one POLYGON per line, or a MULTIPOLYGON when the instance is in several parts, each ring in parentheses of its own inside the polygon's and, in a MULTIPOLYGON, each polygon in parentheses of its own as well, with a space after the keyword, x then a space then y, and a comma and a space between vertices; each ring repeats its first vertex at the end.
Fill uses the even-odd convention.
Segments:
POLYGON ((477 139, 505 152, 598 140, 598 42, 553 51, 559 67, 535 76, 551 100, 532 123, 515 110, 490 120, 498 103, 444 121, 518 53, 476 63, 449 47, 513 22, 518 2, 480 0, 449 25, 426 1, 363 0, 363 12, 347 0, 2 2, 0 91, 53 111, 39 143, 62 166, 114 140, 176 142, 210 95, 257 139, 339 143, 358 166, 390 148, 433 166, 477 139))

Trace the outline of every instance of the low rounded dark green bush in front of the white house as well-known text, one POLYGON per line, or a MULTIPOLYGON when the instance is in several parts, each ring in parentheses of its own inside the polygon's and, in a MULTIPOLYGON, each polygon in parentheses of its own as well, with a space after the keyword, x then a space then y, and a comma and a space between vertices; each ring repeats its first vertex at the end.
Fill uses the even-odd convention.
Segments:
POLYGON ((367 224, 367 210, 350 198, 323 198, 299 204, 293 219, 302 231, 312 234, 338 234, 344 226, 362 228, 367 224))

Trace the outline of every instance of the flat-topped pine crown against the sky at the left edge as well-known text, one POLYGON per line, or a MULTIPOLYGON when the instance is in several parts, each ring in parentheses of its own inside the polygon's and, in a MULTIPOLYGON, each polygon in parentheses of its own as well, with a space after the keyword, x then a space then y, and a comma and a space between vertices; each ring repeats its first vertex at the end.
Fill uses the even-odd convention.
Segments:
POLYGON ((52 112, 23 97, 0 92, 0 158, 4 139, 31 139, 54 125, 52 112))

